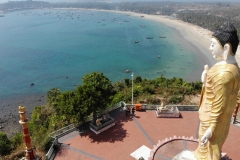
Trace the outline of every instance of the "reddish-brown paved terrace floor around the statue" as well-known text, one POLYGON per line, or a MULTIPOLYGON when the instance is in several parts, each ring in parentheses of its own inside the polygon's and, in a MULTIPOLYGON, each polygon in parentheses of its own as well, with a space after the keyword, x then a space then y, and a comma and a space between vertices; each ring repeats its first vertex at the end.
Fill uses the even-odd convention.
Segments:
MULTIPOLYGON (((115 118, 116 125, 98 135, 88 130, 84 135, 74 131, 61 137, 59 139, 62 143, 61 149, 55 159, 133 160, 130 154, 142 145, 152 149, 159 140, 174 135, 197 138, 199 120, 198 112, 195 111, 181 111, 181 118, 157 118, 155 111, 151 110, 137 111, 133 119, 121 110, 110 115, 115 118)), ((233 160, 240 157, 239 135, 240 127, 231 125, 228 138, 222 148, 223 152, 233 160)), ((171 160, 172 153, 178 153, 174 146, 174 144, 164 146, 164 153, 158 151, 157 159, 171 160)))

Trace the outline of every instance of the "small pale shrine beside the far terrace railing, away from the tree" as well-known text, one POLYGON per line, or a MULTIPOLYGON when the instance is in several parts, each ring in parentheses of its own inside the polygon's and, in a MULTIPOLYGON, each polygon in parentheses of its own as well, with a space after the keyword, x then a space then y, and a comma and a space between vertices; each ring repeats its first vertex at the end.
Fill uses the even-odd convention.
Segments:
POLYGON ((161 107, 156 108, 156 115, 161 117, 180 117, 180 112, 177 106, 166 107, 166 99, 162 100, 161 107))

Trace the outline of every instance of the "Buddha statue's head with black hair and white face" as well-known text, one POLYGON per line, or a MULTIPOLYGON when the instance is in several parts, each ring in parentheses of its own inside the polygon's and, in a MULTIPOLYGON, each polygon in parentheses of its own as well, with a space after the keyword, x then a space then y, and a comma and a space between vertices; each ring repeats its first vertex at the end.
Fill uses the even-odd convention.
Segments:
POLYGON ((212 35, 210 50, 213 57, 219 61, 234 59, 239 44, 237 30, 229 22, 225 22, 212 35))

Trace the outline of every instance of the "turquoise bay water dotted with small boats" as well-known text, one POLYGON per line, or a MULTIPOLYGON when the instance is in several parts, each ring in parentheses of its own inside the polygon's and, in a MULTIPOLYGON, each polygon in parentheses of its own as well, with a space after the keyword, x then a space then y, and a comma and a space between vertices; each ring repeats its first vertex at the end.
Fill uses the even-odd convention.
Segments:
POLYGON ((0 18, 0 39, 0 97, 71 90, 93 71, 112 82, 131 79, 126 70, 147 79, 188 79, 202 66, 174 28, 112 12, 11 12, 0 18))

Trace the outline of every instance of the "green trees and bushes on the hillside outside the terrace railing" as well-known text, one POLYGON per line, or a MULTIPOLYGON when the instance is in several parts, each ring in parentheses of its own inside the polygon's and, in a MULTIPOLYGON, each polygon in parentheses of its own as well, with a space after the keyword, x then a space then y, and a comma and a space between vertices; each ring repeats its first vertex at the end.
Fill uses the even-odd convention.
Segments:
MULTIPOLYGON (((137 76, 133 83, 134 103, 161 104, 162 98, 166 98, 168 104, 181 104, 186 96, 200 94, 202 88, 201 82, 186 82, 181 78, 168 79, 163 76, 153 80, 137 76)), ((101 114, 107 107, 120 101, 131 103, 131 99, 131 79, 112 84, 103 73, 98 72, 85 75, 83 84, 75 90, 61 92, 53 88, 47 92, 47 104, 36 106, 32 113, 29 121, 32 143, 40 152, 46 153, 52 143, 49 137, 51 132, 69 124, 84 123, 89 116, 96 119, 97 114, 101 114)), ((16 149, 17 153, 22 154, 24 145, 21 133, 11 140, 5 133, 0 133, 0 137, 1 156, 16 153, 16 149)), ((7 157, 9 159, 12 155, 7 157)))

